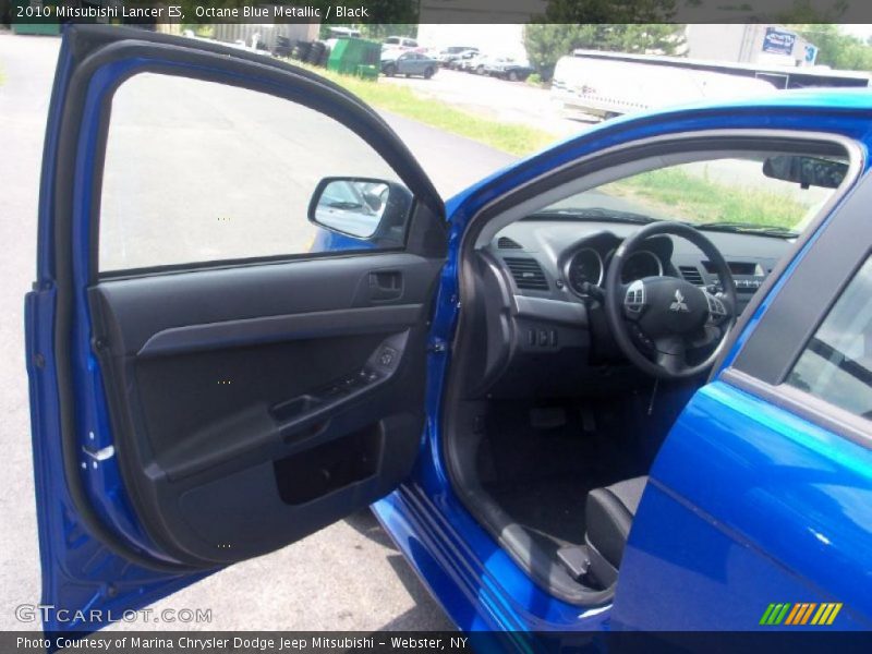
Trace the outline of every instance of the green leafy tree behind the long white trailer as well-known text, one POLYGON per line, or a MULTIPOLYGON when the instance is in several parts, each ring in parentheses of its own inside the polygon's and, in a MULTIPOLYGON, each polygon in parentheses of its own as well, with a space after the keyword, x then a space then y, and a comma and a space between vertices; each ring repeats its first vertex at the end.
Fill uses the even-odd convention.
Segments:
POLYGON ((683 32, 683 25, 668 23, 536 23, 524 28, 524 47, 530 63, 548 80, 557 60, 577 48, 674 55, 685 43, 683 32))

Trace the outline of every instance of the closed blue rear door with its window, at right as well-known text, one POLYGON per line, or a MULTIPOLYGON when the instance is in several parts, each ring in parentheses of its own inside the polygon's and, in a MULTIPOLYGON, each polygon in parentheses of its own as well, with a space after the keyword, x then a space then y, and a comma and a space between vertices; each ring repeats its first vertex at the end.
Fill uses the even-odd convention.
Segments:
POLYGON ((773 274, 651 471, 613 621, 872 626, 872 179, 773 274))

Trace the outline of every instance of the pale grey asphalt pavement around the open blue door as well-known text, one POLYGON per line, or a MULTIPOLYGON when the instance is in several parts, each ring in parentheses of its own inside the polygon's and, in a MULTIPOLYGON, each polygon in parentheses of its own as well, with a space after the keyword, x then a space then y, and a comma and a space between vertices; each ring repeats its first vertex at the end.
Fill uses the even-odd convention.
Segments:
MULTIPOLYGON (((35 276, 43 136, 59 40, 0 32, 0 629, 36 629, 14 608, 39 601, 39 556, 24 363, 24 294, 35 276)), ((448 197, 513 157, 386 116, 448 197)), ((142 136, 149 137, 148 133, 142 136)), ((368 511, 238 564, 159 602, 211 609, 218 630, 423 630, 450 623, 368 511)), ((148 628, 138 623, 135 628, 148 628)))

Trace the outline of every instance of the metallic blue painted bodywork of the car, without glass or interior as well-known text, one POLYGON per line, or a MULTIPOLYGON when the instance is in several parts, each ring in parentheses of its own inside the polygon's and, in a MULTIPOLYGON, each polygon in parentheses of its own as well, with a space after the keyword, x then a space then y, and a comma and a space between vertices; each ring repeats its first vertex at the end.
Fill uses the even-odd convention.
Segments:
MULTIPOLYGON (((147 59, 150 55, 143 55, 147 59)), ((100 94, 131 66, 119 61, 98 71, 88 89, 80 147, 94 156, 100 94)), ((86 499, 111 531, 165 570, 129 565, 98 533, 71 517, 75 502, 65 483, 61 448, 56 348, 57 271, 52 253, 75 257, 76 315, 71 329, 75 365, 74 403, 82 411, 82 448, 99 452, 113 445, 105 399, 106 379, 90 350, 85 289, 94 253, 85 207, 72 243, 52 230, 49 187, 58 147, 57 125, 69 93, 70 53, 62 49, 49 116, 38 239, 38 279, 26 300, 27 362, 38 499, 44 602, 71 609, 119 615, 147 605, 210 571, 173 570, 129 501, 116 459, 99 461, 86 477, 86 499), (99 561, 98 566, 89 565, 99 561), (111 583, 107 580, 111 579, 111 583), (109 589, 109 590, 107 590, 109 589)), ((483 207, 549 171, 613 146, 669 134, 710 130, 826 132, 872 144, 872 94, 806 92, 765 100, 686 107, 603 123, 528 157, 469 187, 445 204, 450 223, 448 258, 440 272, 428 336, 426 423, 411 474, 373 505, 386 531, 453 622, 468 631, 750 630, 773 602, 844 604, 840 629, 872 623, 872 453, 868 444, 844 437, 791 410, 730 374, 754 332, 767 320, 785 284, 806 265, 819 233, 829 229, 835 208, 798 249, 753 316, 741 325, 730 352, 710 380, 687 402, 651 471, 614 604, 580 608, 531 581, 476 522, 451 487, 443 459, 443 413, 450 347, 458 317, 458 256, 470 219, 483 207), (704 479, 705 483, 700 483, 704 479), (664 529, 668 525, 668 529, 664 529)), ((89 193, 92 159, 74 171, 83 202, 89 193)), ((868 174, 868 157, 857 186, 868 174)), ((855 193, 859 193, 856 190, 855 193)), ((843 204, 850 202, 848 194, 843 204)), ((76 209, 80 210, 80 209, 76 209)), ((846 209, 847 210, 847 209, 846 209)), ((865 238, 865 237, 864 237, 865 238)), ((323 232, 315 251, 365 250, 356 239, 323 232)), ((687 398, 681 398, 681 401, 687 398)), ((678 401, 676 399, 675 401, 678 401)), ((95 459, 96 461, 96 459, 95 459)), ((90 459, 85 459, 86 463, 90 459)), ((81 498, 80 498, 81 499, 81 498)), ((97 629, 111 618, 47 620, 47 630, 97 629)))

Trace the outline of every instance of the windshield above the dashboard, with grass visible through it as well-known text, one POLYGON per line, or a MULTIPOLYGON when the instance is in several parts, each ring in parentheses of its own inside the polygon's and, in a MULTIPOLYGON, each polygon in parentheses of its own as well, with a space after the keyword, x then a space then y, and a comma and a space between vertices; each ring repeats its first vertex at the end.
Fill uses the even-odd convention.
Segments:
POLYGON ((835 190, 766 177, 765 158, 664 167, 572 195, 540 214, 632 222, 679 220, 704 229, 797 235, 835 190))

